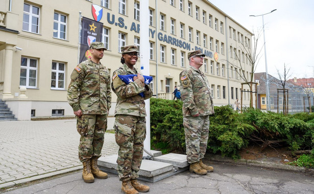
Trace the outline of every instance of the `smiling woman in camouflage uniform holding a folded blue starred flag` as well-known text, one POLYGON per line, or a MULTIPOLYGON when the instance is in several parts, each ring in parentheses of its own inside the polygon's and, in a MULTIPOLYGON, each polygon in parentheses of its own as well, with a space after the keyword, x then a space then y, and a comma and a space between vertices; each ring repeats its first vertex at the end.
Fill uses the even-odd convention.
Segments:
POLYGON ((146 110, 144 100, 152 97, 149 85, 144 83, 144 77, 134 68, 138 59, 136 46, 121 48, 120 66, 113 72, 111 88, 117 95, 115 107, 115 141, 119 145, 117 169, 122 190, 126 193, 149 191, 150 187, 137 181, 138 170, 143 156, 143 142, 146 137, 146 110), (118 75, 135 74, 133 82, 126 84, 118 75), (138 95, 143 93, 144 97, 138 95), (136 190, 135 190, 136 189, 136 190))

